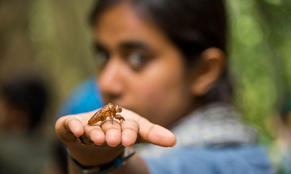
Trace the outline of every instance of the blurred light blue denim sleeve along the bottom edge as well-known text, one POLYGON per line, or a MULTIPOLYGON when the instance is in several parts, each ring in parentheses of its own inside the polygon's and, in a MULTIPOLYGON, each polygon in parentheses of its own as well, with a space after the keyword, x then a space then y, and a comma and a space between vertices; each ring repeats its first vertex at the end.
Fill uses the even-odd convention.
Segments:
POLYGON ((264 151, 256 146, 184 148, 162 157, 145 157, 152 174, 269 174, 274 173, 264 151))

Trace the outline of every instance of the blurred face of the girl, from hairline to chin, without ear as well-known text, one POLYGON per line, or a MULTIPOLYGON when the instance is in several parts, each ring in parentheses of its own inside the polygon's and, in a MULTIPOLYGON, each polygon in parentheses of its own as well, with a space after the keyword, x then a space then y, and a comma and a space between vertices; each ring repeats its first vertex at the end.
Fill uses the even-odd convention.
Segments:
POLYGON ((102 62, 98 84, 105 102, 162 126, 193 109, 182 53, 154 23, 119 4, 98 17, 95 38, 102 62))

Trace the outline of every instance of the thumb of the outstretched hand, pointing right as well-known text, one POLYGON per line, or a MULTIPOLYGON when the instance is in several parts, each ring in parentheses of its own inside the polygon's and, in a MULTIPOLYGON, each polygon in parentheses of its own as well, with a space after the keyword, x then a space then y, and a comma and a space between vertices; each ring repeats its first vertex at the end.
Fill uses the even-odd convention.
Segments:
POLYGON ((176 144, 175 135, 168 129, 153 124, 144 117, 139 117, 139 141, 148 142, 164 147, 172 147, 176 144))

